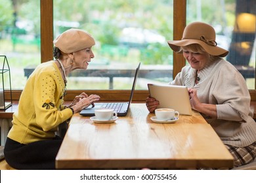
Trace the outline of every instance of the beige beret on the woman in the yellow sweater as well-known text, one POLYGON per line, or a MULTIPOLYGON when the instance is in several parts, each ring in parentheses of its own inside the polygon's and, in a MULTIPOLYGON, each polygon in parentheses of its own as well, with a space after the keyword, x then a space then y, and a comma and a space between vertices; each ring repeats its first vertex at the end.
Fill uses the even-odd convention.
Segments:
POLYGON ((53 44, 62 52, 70 54, 95 45, 95 40, 87 31, 72 28, 59 35, 53 44))

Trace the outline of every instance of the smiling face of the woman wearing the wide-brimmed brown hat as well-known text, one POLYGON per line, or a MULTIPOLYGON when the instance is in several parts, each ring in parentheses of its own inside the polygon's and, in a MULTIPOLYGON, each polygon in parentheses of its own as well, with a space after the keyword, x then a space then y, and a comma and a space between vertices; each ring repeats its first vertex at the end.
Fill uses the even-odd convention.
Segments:
POLYGON ((188 61, 193 69, 200 71, 209 61, 209 54, 198 44, 182 47, 184 58, 188 61))

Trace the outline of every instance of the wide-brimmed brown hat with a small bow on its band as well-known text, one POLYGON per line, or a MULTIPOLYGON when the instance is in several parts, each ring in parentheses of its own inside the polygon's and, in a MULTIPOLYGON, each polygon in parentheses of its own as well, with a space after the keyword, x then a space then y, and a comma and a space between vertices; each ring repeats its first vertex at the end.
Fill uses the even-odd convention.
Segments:
POLYGON ((212 56, 225 57, 228 54, 228 51, 217 46, 215 38, 215 30, 211 25, 203 22, 193 22, 185 27, 181 41, 167 42, 175 52, 180 52, 181 46, 200 44, 208 54, 212 56))

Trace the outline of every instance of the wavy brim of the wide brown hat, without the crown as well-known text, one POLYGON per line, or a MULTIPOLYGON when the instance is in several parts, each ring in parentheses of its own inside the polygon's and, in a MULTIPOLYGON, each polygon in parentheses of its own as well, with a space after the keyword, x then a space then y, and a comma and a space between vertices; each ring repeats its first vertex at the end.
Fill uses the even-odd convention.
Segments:
POLYGON ((188 46, 189 44, 200 44, 203 49, 212 56, 225 57, 228 54, 228 50, 220 48, 219 46, 210 46, 198 39, 184 39, 181 41, 167 41, 171 49, 175 52, 179 52, 181 46, 188 46))

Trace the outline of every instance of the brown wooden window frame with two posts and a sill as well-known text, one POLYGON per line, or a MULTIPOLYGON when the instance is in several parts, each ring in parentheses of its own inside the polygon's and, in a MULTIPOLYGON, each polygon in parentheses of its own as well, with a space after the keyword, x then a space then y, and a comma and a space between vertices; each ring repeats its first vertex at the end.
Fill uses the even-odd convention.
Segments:
MULTIPOLYGON (((40 0, 41 16, 41 63, 53 59, 53 0, 40 0)), ((186 0, 173 0, 173 40, 182 38, 186 26, 186 0)), ((170 50, 171 52, 171 50, 170 50)), ((186 64, 182 54, 173 52, 173 78, 186 64)), ((18 100, 22 90, 12 91, 12 99, 18 100)), ((81 92, 100 95, 101 101, 124 101, 129 99, 130 90, 68 90, 65 100, 73 100, 81 92), (111 100, 110 100, 111 99, 111 100)), ((256 90, 249 90, 251 101, 256 101, 256 90)), ((133 102, 144 102, 147 90, 135 90, 133 102)))

